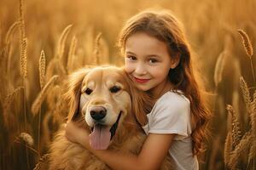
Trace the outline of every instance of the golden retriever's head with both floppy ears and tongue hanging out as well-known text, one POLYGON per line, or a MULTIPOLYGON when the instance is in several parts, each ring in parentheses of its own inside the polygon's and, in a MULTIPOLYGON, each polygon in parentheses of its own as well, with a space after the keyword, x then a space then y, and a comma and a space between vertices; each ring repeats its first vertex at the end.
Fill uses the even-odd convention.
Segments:
POLYGON ((114 66, 82 69, 69 77, 68 120, 86 122, 90 145, 105 150, 123 122, 147 122, 148 95, 139 92, 123 69, 114 66))

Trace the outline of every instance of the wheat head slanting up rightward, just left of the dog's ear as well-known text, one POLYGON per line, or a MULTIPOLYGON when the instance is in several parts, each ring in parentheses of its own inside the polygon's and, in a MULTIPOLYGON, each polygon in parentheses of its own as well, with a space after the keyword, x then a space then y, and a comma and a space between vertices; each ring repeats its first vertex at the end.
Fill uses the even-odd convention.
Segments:
POLYGON ((59 78, 59 76, 55 75, 53 77, 51 77, 49 79, 49 82, 47 82, 44 86, 44 88, 42 89, 42 91, 40 92, 40 94, 38 94, 37 99, 34 100, 33 104, 32 104, 32 114, 35 116, 39 109, 40 106, 42 105, 46 95, 49 92, 49 89, 52 88, 53 83, 56 82, 56 80, 59 78))

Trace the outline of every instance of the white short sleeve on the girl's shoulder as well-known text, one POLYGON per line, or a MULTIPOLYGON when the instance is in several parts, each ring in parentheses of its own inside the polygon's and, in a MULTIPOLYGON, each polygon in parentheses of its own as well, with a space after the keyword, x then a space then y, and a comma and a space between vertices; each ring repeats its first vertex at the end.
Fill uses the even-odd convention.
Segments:
POLYGON ((183 95, 165 94, 154 105, 151 114, 148 133, 176 133, 176 140, 191 134, 189 99, 183 95))

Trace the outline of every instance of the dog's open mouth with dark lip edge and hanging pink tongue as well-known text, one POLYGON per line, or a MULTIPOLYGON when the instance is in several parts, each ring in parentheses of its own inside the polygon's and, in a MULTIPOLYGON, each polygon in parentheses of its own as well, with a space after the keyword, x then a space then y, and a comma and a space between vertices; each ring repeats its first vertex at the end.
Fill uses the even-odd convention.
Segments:
POLYGON ((96 123, 94 127, 91 127, 91 133, 89 135, 90 146, 94 150, 107 150, 111 139, 116 132, 116 129, 119 124, 119 119, 121 117, 122 111, 119 112, 119 116, 117 121, 113 124, 112 127, 108 125, 103 125, 100 123, 96 123))

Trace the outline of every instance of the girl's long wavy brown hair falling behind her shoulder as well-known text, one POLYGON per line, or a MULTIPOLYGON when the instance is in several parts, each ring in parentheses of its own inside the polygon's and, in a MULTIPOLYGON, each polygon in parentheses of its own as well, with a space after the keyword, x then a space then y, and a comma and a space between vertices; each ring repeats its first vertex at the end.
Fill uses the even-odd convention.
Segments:
POLYGON ((204 150, 204 139, 207 138, 207 124, 211 117, 207 109, 206 100, 203 99, 203 87, 195 78, 195 69, 192 67, 192 54, 187 42, 181 23, 167 10, 145 10, 136 14, 125 23, 119 34, 119 48, 125 51, 125 42, 128 37, 137 33, 145 32, 149 36, 156 37, 166 42, 170 56, 178 54, 179 64, 170 69, 168 77, 175 89, 182 90, 190 100, 193 154, 198 155, 204 150))

